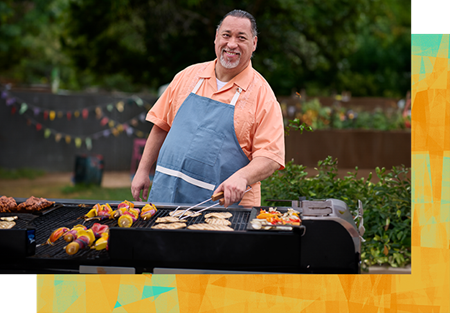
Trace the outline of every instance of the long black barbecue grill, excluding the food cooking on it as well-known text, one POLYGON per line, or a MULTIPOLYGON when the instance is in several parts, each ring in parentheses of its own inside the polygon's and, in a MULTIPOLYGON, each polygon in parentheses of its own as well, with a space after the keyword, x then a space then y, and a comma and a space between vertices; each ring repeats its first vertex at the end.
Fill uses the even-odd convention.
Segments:
MULTIPOLYGON (((12 235, 8 231, 34 231, 34 238, 28 237, 26 255, 0 257, 4 273, 79 273, 86 266, 133 268, 136 273, 360 273, 362 238, 347 205, 336 199, 292 201, 289 208, 300 212, 302 226, 284 230, 252 229, 251 219, 268 207, 218 207, 203 212, 231 212, 230 227, 234 231, 151 228, 158 217, 188 205, 155 204, 158 210, 152 218, 138 219, 130 228, 121 228, 117 219, 83 219, 96 203, 109 203, 114 210, 120 202, 56 201, 59 206, 0 231, 0 248, 12 235), (59 227, 84 223, 90 228, 97 222, 110 227, 108 250, 83 249, 70 256, 62 238, 54 245, 43 245, 59 227)), ((135 205, 140 208, 144 203, 135 205)), ((287 209, 277 207, 280 212, 287 209)), ((203 223, 204 214, 188 218, 187 226, 203 223)))

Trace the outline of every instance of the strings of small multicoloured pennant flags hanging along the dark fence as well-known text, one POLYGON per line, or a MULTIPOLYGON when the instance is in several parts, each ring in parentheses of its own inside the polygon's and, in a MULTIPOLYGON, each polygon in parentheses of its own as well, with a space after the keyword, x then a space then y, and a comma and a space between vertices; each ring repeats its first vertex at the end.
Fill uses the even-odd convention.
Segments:
POLYGON ((126 133, 128 136, 135 135, 140 138, 148 136, 148 133, 144 133, 136 128, 139 125, 139 122, 145 122, 146 112, 142 112, 125 122, 116 121, 104 114, 105 111, 112 112, 114 109, 122 113, 126 104, 136 104, 139 107, 143 107, 148 110, 150 105, 145 104, 144 101, 137 96, 132 96, 126 100, 120 100, 114 104, 107 103, 104 105, 95 105, 88 108, 83 108, 81 110, 49 110, 36 105, 31 105, 20 98, 11 95, 8 86, 2 91, 1 98, 5 100, 6 106, 11 107, 11 114, 18 112, 20 115, 24 115, 27 125, 34 126, 36 131, 43 131, 44 138, 48 139, 53 136, 56 142, 65 142, 66 144, 73 142, 77 148, 81 148, 84 143, 86 148, 91 150, 92 140, 99 140, 101 138, 109 137, 110 135, 117 137, 121 133, 126 133), (32 112, 33 114, 30 116, 25 114, 26 112, 32 112), (48 121, 53 121, 57 118, 61 119, 64 117, 67 121, 79 117, 87 119, 88 116, 94 113, 100 125, 108 128, 86 136, 74 136, 38 122, 35 117, 41 113, 43 114, 44 120, 48 121))

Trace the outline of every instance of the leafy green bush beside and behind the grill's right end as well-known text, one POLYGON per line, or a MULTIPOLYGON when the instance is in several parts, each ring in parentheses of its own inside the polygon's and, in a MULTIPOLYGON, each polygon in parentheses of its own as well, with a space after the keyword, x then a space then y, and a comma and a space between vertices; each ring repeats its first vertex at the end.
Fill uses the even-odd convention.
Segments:
MULTIPOLYGON (((362 243, 362 269, 372 265, 404 267, 411 263, 411 181, 410 168, 392 167, 390 171, 376 168, 379 182, 372 183, 372 173, 365 180, 357 178, 355 172, 348 172, 338 178, 337 159, 328 156, 319 161, 318 174, 308 177, 303 165, 286 164, 262 182, 262 205, 286 206, 286 202, 267 199, 297 200, 299 197, 313 199, 340 199, 347 203, 353 216, 357 216, 358 200, 364 209, 366 229, 362 243)), ((359 221, 357 220, 357 225, 359 221)))

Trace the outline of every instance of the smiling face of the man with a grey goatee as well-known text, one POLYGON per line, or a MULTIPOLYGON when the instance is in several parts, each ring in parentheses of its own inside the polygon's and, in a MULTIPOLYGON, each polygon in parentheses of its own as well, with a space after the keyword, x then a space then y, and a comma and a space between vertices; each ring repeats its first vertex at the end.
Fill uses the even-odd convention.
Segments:
POLYGON ((242 71, 256 49, 257 40, 256 36, 252 36, 250 20, 227 16, 214 40, 220 65, 237 73, 242 71))

